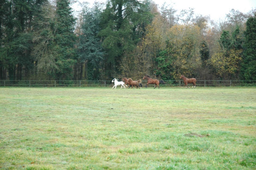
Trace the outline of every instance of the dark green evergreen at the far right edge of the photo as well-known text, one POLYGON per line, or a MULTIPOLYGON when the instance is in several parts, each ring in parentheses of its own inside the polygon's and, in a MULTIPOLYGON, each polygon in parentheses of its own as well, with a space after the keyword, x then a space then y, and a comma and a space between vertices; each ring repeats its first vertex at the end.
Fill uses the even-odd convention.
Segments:
POLYGON ((246 22, 244 58, 241 77, 244 80, 256 80, 256 15, 246 22))

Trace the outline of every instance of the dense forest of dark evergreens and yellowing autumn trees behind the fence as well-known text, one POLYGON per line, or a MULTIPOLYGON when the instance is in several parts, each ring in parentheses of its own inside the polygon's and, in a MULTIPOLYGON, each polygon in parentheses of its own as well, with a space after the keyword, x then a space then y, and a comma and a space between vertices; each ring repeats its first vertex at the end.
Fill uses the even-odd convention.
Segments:
POLYGON ((256 80, 256 9, 213 21, 152 0, 81 7, 0 0, 0 80, 256 80))

